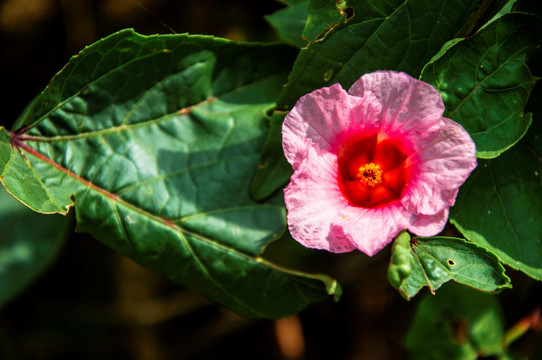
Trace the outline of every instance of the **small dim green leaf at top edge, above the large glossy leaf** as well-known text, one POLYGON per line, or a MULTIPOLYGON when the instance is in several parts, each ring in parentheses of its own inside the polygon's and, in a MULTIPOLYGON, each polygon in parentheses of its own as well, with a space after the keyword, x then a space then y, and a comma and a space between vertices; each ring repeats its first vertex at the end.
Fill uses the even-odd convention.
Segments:
POLYGON ((287 7, 275 11, 265 19, 277 30, 281 39, 299 48, 306 46, 307 41, 302 38, 302 33, 309 16, 309 0, 278 1, 287 7))

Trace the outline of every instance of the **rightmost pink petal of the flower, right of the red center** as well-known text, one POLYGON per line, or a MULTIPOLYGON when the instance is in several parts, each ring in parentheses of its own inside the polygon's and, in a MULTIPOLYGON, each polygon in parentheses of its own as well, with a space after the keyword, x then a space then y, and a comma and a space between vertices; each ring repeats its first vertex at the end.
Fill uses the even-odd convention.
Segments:
POLYGON ((442 118, 438 135, 408 162, 415 170, 402 203, 415 214, 433 215, 455 203, 459 187, 476 167, 476 148, 461 125, 442 118))

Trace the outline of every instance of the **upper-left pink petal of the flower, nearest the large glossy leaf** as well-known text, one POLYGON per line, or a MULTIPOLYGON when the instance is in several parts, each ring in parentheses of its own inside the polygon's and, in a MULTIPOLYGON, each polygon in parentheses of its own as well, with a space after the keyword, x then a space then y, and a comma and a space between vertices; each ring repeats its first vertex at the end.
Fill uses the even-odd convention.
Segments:
POLYGON ((380 104, 372 94, 350 96, 339 84, 301 97, 282 125, 284 154, 294 170, 307 146, 336 152, 342 136, 378 125, 380 104))

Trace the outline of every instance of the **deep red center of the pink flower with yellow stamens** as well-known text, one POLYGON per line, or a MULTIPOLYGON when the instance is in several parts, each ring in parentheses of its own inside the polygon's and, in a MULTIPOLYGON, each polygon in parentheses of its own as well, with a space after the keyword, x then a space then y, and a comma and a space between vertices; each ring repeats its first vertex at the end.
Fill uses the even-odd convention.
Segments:
POLYGON ((339 152, 339 186, 350 205, 375 208, 401 198, 407 156, 390 140, 356 138, 339 152))

